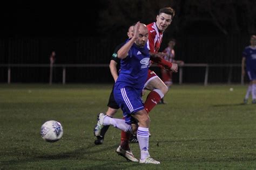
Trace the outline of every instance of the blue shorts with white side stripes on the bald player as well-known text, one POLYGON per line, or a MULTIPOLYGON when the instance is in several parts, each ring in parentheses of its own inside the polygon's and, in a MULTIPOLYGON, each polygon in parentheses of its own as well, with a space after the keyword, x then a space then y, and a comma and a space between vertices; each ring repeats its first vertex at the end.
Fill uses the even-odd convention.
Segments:
POLYGON ((142 91, 136 90, 132 87, 117 88, 114 87, 114 100, 116 100, 119 107, 123 110, 125 123, 131 124, 134 119, 131 114, 144 109, 142 91))

